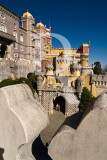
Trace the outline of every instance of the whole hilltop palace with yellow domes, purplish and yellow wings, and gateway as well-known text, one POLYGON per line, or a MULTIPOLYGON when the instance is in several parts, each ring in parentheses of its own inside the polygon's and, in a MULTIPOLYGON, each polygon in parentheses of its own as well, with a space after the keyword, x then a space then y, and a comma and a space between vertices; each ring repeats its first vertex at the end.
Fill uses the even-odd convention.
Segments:
POLYGON ((107 88, 107 76, 93 75, 89 65, 90 42, 79 48, 53 48, 51 27, 36 23, 28 11, 21 26, 19 22, 19 16, 0 4, 0 81, 43 74, 44 80, 39 76, 37 82, 39 101, 51 114, 59 97, 65 115, 78 112, 83 87, 95 97, 107 88))

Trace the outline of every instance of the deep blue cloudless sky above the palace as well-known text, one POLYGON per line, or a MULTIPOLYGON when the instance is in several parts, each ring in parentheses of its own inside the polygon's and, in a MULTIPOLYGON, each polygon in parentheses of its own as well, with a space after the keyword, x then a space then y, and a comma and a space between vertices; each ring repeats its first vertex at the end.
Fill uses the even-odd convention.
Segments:
MULTIPOLYGON (((22 16, 28 11, 35 23, 51 26, 52 33, 64 36, 72 48, 90 41, 90 65, 107 65, 107 0, 0 0, 5 7, 22 16)), ((53 47, 62 44, 55 38, 53 47)), ((69 47, 65 44, 66 48, 69 47)))

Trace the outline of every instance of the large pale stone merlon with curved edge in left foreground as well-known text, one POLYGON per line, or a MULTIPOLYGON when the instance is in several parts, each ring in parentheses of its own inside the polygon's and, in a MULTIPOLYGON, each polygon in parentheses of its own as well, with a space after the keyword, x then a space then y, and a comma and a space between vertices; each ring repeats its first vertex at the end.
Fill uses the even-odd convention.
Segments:
POLYGON ((4 160, 34 160, 32 143, 48 116, 26 84, 0 89, 0 155, 4 160))

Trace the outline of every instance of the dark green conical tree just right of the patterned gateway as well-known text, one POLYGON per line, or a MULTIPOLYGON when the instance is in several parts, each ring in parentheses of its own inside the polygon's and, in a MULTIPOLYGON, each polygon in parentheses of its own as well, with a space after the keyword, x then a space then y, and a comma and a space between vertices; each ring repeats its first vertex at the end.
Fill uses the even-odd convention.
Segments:
POLYGON ((94 100, 94 97, 91 94, 91 91, 89 91, 86 87, 84 87, 83 92, 81 94, 79 111, 84 112, 89 107, 89 105, 93 100, 94 100))

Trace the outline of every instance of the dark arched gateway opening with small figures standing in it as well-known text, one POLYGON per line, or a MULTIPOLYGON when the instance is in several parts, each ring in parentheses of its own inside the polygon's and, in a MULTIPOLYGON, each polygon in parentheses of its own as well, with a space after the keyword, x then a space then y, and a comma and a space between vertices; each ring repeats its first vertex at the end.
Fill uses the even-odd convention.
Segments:
POLYGON ((66 101, 62 96, 58 96, 53 100, 54 108, 65 114, 66 101))

